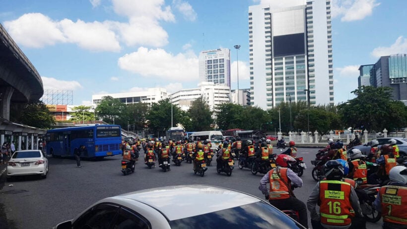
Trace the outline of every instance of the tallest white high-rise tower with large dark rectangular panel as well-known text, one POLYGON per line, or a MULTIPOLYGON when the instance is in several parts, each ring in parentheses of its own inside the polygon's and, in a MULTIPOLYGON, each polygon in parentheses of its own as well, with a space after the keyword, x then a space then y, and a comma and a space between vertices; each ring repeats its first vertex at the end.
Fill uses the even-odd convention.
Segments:
POLYGON ((334 104, 331 0, 249 6, 249 58, 252 105, 334 104))

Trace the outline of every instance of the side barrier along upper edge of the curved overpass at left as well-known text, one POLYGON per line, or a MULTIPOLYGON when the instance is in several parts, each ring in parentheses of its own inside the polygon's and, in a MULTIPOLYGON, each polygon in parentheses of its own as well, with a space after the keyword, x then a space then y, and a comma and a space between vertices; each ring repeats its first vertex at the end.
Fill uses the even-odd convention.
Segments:
POLYGON ((13 51, 14 56, 25 64, 28 71, 31 72, 41 83, 41 86, 43 86, 41 76, 37 72, 37 69, 35 69, 32 63, 28 60, 27 56, 25 56, 25 54, 21 51, 21 49, 14 42, 11 36, 7 33, 7 31, 5 30, 1 23, 0 23, 0 34, 2 36, 2 42, 4 43, 4 45, 10 47, 10 50, 13 51))

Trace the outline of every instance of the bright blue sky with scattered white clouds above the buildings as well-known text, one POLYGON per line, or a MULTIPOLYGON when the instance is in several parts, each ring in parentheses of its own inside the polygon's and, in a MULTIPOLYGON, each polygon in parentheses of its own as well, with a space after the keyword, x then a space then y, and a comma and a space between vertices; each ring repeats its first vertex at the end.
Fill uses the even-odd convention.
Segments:
MULTIPOLYGON (((298 1, 298 0, 285 0, 298 1)), ((325 1, 325 0, 324 0, 325 1)), ((45 89, 92 94, 198 84, 202 50, 230 48, 232 89, 249 88, 249 5, 282 0, 0 0, 0 22, 45 89)), ((406 0, 333 0, 335 103, 353 98, 358 67, 407 53, 406 0)))

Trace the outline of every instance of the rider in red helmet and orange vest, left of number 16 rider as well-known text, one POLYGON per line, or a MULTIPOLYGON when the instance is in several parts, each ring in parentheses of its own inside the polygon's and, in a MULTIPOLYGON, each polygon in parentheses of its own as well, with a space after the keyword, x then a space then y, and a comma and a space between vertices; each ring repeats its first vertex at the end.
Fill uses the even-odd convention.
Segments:
POLYGON ((302 187, 302 179, 288 168, 288 163, 295 163, 295 159, 285 154, 277 155, 276 168, 272 168, 260 180, 259 190, 269 196, 269 202, 279 210, 298 211, 299 223, 308 228, 307 208, 292 192, 294 187, 302 187), (270 183, 270 193, 267 191, 270 183), (291 184, 292 183, 292 184, 291 184))

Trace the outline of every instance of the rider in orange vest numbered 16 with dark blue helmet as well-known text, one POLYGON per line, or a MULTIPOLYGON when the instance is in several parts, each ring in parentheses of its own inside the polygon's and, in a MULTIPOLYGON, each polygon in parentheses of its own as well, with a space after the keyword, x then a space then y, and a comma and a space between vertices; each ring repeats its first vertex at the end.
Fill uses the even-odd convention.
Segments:
POLYGON ((344 169, 339 161, 327 161, 324 171, 326 179, 315 185, 307 201, 312 228, 347 229, 351 226, 351 218, 363 217, 358 197, 354 188, 342 180, 344 169))

